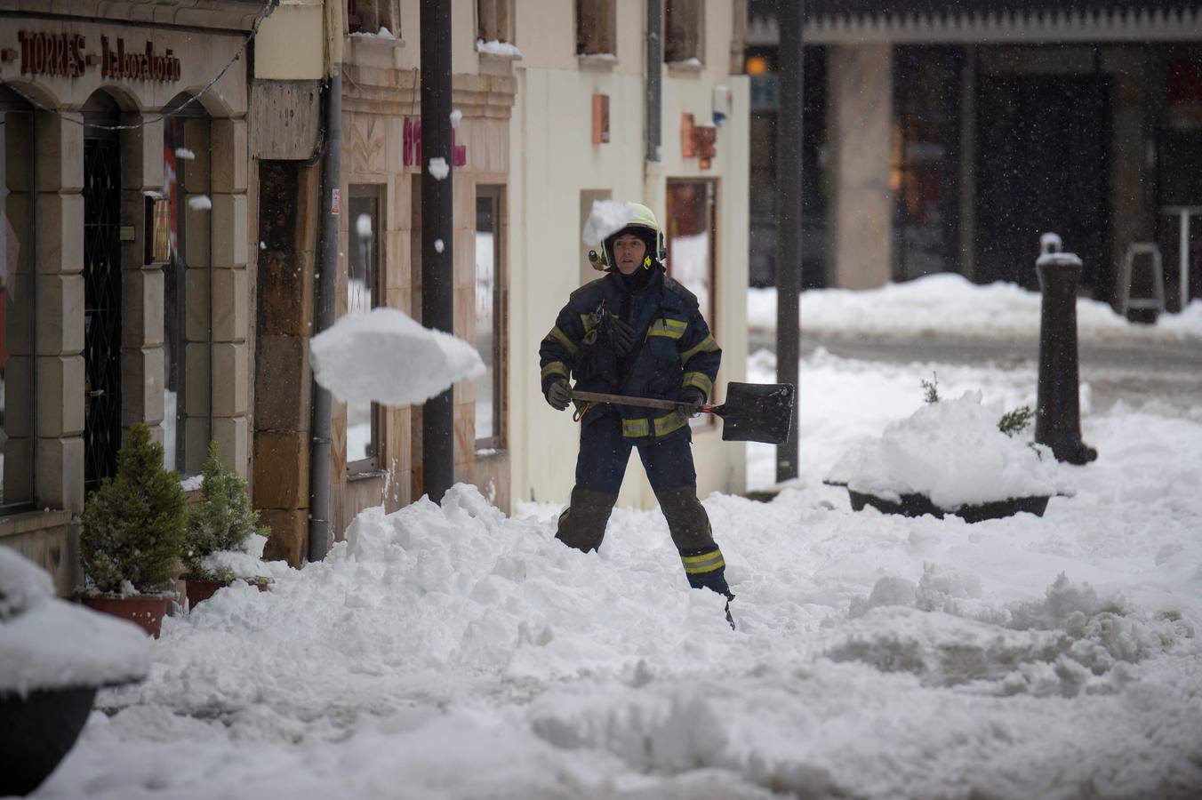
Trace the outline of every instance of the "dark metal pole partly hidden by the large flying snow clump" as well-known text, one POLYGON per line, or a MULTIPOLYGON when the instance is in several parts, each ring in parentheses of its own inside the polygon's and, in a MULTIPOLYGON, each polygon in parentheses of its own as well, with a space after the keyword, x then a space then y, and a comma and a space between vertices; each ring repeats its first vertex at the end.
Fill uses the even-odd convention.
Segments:
MULTIPOLYGON (((422 324, 453 333, 451 0, 422 0, 421 29, 422 324), (435 159, 442 159, 445 175, 434 174, 430 162, 435 159)), ((422 410, 422 480, 434 502, 441 502, 454 482, 452 389, 427 400, 422 410)))

